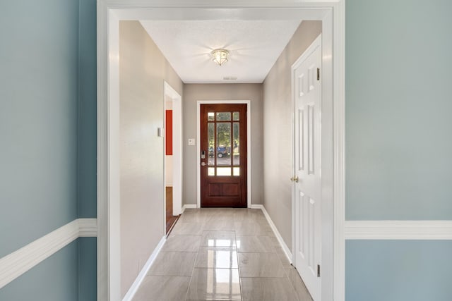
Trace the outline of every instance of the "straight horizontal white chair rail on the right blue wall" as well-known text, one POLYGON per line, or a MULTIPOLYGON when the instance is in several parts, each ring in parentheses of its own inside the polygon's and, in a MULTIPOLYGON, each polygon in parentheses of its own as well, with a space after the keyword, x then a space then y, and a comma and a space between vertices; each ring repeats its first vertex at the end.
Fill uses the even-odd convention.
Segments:
POLYGON ((346 240, 452 240, 452 221, 345 221, 346 240))

